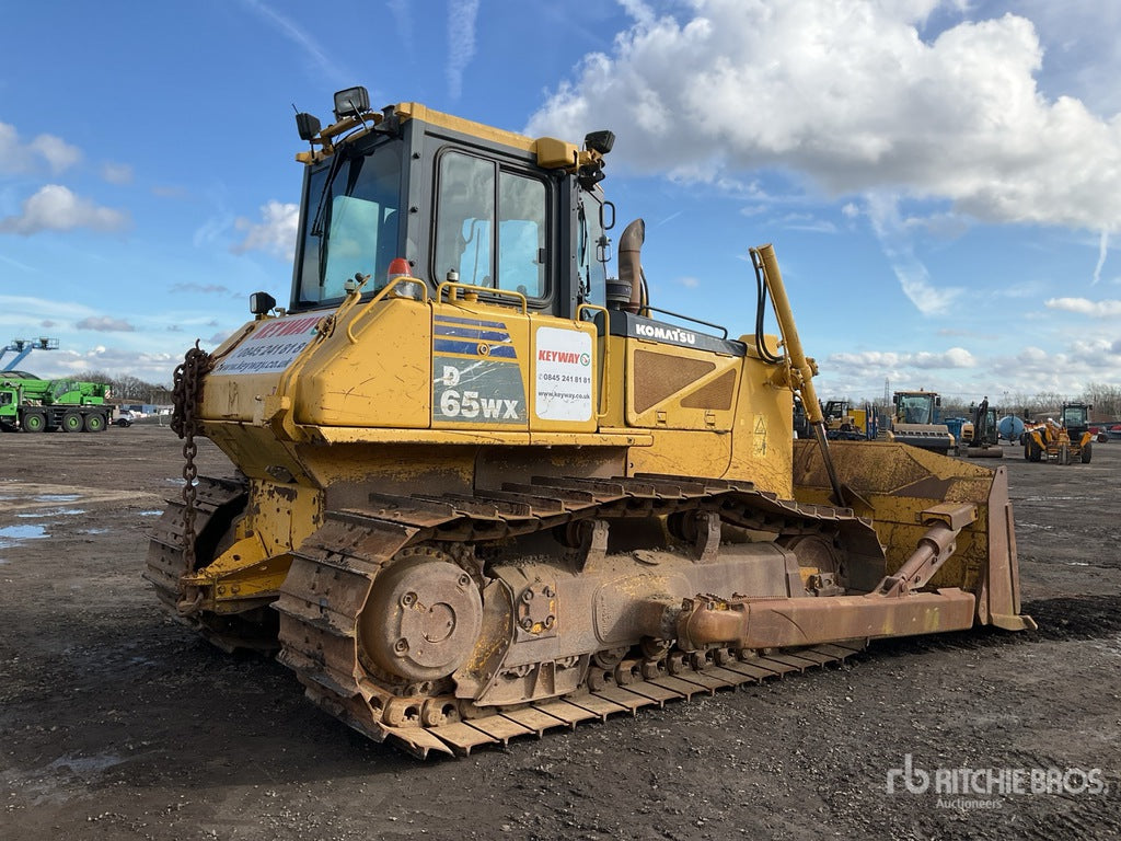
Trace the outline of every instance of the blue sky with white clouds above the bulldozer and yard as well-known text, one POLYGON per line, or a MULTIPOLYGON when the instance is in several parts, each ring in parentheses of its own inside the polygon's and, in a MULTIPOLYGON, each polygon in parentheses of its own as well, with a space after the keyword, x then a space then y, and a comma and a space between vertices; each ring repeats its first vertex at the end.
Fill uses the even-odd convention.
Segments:
MULTIPOLYGON (((0 30, 0 343, 169 383, 287 301, 334 91, 617 136, 651 303, 752 330, 773 243, 822 397, 1121 387, 1121 3, 55 0, 0 30)), ((4 362, 11 359, 8 354, 4 362)))

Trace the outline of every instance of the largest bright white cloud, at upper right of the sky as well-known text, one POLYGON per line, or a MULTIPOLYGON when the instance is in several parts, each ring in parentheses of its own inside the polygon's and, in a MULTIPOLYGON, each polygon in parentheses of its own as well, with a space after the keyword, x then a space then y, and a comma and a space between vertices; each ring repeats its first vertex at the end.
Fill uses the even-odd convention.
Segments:
POLYGON ((1030 20, 966 20, 924 40, 933 11, 966 7, 687 6, 678 20, 628 4, 634 22, 610 55, 585 56, 528 133, 614 126, 614 156, 645 172, 772 167, 837 196, 887 188, 993 222, 1121 227, 1121 122, 1040 93, 1030 20))

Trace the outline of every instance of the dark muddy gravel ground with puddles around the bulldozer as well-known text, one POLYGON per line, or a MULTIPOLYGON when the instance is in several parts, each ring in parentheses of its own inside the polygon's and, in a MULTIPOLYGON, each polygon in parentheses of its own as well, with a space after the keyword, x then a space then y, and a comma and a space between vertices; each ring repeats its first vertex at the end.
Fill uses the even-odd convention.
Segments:
MULTIPOLYGON (((140 572, 178 491, 168 429, 0 435, 0 838, 1118 837, 1121 442, 1066 468, 1006 451, 1038 631, 879 643, 419 763, 321 713, 277 663, 224 655, 159 610, 140 572), (1019 770, 1025 793, 889 793, 907 755, 916 787, 924 770, 1019 770), (1032 794, 1046 769, 1067 785, 1032 794)), ((229 472, 209 442, 200 463, 229 472)))

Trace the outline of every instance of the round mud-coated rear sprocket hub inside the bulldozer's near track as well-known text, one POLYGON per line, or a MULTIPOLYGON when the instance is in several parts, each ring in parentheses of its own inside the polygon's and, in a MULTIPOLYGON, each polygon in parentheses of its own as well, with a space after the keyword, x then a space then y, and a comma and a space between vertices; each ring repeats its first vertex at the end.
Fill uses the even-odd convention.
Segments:
POLYGON ((463 569, 436 549, 406 549, 374 581, 358 634, 379 668, 432 681, 466 660, 482 621, 482 597, 463 569))

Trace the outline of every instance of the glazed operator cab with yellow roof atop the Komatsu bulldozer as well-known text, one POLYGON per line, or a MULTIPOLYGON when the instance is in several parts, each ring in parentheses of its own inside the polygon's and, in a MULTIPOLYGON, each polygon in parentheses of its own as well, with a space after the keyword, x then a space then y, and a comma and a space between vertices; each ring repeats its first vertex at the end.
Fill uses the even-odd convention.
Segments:
POLYGON ((591 178, 541 166, 536 142, 415 103, 378 117, 330 155, 305 153, 289 312, 340 304, 355 277, 371 278, 371 297, 395 258, 429 294, 452 280, 558 317, 574 317, 578 303, 604 305, 603 194, 591 178))

